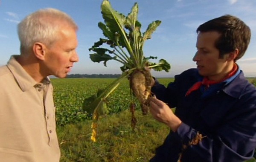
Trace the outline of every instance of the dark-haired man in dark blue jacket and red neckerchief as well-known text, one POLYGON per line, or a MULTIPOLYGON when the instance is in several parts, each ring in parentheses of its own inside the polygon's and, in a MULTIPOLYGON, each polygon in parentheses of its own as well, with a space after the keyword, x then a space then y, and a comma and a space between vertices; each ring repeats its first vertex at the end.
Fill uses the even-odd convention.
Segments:
POLYGON ((151 162, 242 162, 256 147, 256 87, 236 64, 250 28, 224 15, 200 25, 197 69, 164 87, 155 81, 150 111, 171 131, 151 162), (175 114, 169 107, 176 107, 175 114))

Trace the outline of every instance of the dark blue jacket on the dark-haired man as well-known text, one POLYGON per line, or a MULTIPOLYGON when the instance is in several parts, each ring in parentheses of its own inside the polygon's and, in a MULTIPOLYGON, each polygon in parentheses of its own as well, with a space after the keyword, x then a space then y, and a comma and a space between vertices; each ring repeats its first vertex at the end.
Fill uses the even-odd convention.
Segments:
POLYGON ((256 148, 256 87, 240 72, 229 84, 213 90, 187 90, 198 81, 197 69, 175 76, 164 87, 156 81, 151 91, 183 122, 176 132, 170 131, 150 162, 242 162, 253 156, 256 148), (197 133, 204 136, 197 145, 188 145, 197 133))

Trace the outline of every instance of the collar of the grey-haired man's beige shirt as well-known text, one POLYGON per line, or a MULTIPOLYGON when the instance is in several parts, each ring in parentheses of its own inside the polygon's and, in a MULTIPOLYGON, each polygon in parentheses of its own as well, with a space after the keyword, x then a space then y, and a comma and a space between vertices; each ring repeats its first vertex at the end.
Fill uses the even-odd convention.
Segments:
MULTIPOLYGON (((16 61, 16 58, 19 55, 12 55, 10 60, 7 63, 7 67, 12 72, 17 84, 19 85, 20 89, 25 92, 29 90, 31 87, 39 84, 36 82, 26 71, 23 67, 16 61)), ((45 78, 43 84, 50 84, 49 77, 45 78)))

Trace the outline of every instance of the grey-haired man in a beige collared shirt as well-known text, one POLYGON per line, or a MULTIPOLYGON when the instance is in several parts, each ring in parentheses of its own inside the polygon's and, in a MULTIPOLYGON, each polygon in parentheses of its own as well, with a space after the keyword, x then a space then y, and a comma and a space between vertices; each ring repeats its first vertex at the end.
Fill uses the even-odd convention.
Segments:
POLYGON ((66 77, 79 60, 76 23, 56 9, 18 24, 20 55, 0 67, 0 161, 59 162, 49 75, 66 77))

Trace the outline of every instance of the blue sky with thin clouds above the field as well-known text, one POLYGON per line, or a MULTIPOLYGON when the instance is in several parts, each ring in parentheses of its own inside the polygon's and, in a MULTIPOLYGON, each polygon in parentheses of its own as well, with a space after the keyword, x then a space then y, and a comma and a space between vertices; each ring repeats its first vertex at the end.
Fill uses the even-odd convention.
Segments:
MULTIPOLYGON (((161 25, 144 45, 145 56, 157 56, 171 64, 170 72, 152 72, 158 77, 175 74, 195 67, 192 57, 196 52, 196 29, 207 20, 224 14, 241 18, 250 27, 252 38, 246 54, 238 61, 246 76, 256 76, 256 0, 110 0, 116 11, 127 15, 137 2, 138 20, 145 32, 148 24, 161 20, 161 25)), ((89 48, 99 38, 104 38, 98 27, 102 21, 102 0, 0 0, 0 65, 10 56, 19 54, 20 43, 17 23, 27 14, 42 8, 55 8, 69 14, 79 26, 79 62, 70 74, 116 74, 122 65, 109 61, 108 67, 93 63, 89 48)))

